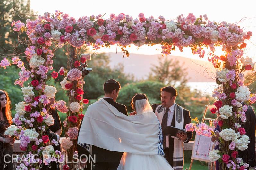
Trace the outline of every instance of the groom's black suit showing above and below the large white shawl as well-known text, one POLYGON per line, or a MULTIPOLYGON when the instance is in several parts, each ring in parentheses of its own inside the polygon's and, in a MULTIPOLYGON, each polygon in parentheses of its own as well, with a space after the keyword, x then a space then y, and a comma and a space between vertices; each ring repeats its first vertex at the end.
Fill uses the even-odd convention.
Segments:
MULTIPOLYGON (((106 100, 112 106, 114 106, 119 112, 128 116, 125 105, 115 102, 112 98, 103 98, 103 99, 106 100)), ((82 125, 82 122, 78 130, 78 135, 79 135, 81 125, 82 125)), ((82 154, 86 154, 86 155, 90 154, 84 147, 80 145, 77 145, 77 151, 78 151, 79 157, 82 154)), ((92 145, 92 157, 94 157, 93 155, 96 156, 96 163, 95 164, 92 163, 93 165, 95 165, 95 166, 92 166, 93 170, 116 170, 120 163, 123 152, 109 151, 109 150, 92 145)), ((91 166, 87 163, 86 169, 90 169, 90 167, 91 166)))

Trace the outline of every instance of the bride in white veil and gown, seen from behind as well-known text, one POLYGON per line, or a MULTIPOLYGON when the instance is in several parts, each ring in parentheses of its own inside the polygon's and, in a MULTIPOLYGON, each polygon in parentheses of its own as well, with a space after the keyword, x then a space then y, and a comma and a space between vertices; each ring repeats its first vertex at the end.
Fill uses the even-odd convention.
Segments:
MULTIPOLYGON (((132 98, 132 109, 137 115, 154 113, 145 94, 136 94, 132 98)), ((132 117, 132 116, 131 116, 132 117)), ((157 119, 157 117, 156 117, 157 119)), ((126 127, 132 128, 132 127, 126 127)), ((150 129, 149 129, 150 130, 150 129)), ((161 148, 162 148, 161 144, 161 148)), ((117 170, 167 170, 173 169, 163 154, 147 155, 124 152, 117 170)))

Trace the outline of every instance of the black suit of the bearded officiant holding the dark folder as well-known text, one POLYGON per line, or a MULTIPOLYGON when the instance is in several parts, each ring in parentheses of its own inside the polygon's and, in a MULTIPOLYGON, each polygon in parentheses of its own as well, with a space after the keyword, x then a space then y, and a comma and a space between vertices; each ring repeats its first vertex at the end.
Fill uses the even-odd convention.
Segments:
MULTIPOLYGON (((159 106, 161 104, 152 104, 151 107, 153 109, 153 112, 155 113, 157 106, 159 106)), ((186 124, 191 123, 191 118, 189 115, 189 111, 183 108, 183 118, 184 118, 184 127, 183 129, 185 129, 186 124)), ((171 126, 175 126, 175 117, 173 116, 172 122, 171 122, 171 126)), ((163 130, 163 129, 162 129, 163 130)), ((187 140, 185 143, 188 143, 191 139, 192 139, 192 132, 187 133, 187 140)), ((171 136, 169 136, 169 148, 165 148, 164 149, 164 154, 165 154, 165 158, 166 160, 169 162, 169 164, 173 167, 173 148, 174 148, 174 138, 172 138, 171 136)), ((183 165, 183 163, 182 163, 183 165)))

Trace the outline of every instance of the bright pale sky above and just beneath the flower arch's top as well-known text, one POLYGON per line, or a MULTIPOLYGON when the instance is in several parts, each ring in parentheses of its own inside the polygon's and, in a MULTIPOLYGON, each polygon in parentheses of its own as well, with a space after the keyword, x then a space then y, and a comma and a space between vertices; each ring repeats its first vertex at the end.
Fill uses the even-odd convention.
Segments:
MULTIPOLYGON (((242 20, 240 25, 244 30, 252 31, 252 37, 249 41, 246 41, 247 48, 245 55, 253 58, 256 61, 256 13, 255 6, 252 5, 252 1, 60 1, 60 0, 45 0, 44 3, 39 3, 37 0, 31 0, 31 9, 38 12, 39 15, 43 15, 44 12, 54 13, 55 10, 60 10, 63 13, 67 13, 78 19, 82 16, 105 14, 103 19, 109 18, 111 13, 114 14, 128 14, 134 19, 138 18, 138 14, 143 12, 145 17, 154 16, 158 18, 159 15, 164 16, 166 19, 175 19, 178 15, 183 14, 187 16, 188 13, 193 13, 196 17, 199 15, 207 14, 210 21, 221 22, 226 21, 228 23, 236 23, 242 20)), ((137 54, 161 54, 160 51, 155 50, 160 48, 158 46, 148 47, 146 45, 137 49, 136 46, 132 46, 127 50, 130 53, 137 54)), ((109 48, 101 48, 97 50, 101 52, 116 52, 116 46, 109 48)), ((120 48, 117 48, 117 52, 121 52, 120 48)), ((218 54, 222 54, 221 50, 218 54)), ((200 59, 198 55, 193 55, 190 48, 186 48, 183 52, 179 50, 173 51, 171 55, 184 56, 193 59, 200 59)), ((207 60, 207 56, 203 58, 207 60)))

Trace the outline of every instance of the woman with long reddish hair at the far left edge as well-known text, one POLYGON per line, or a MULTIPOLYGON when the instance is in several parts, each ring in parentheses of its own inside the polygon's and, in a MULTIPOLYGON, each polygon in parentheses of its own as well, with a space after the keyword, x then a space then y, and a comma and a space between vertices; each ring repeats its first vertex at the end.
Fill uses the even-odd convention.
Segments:
POLYGON ((12 170, 12 154, 15 138, 9 135, 4 135, 7 127, 9 127, 12 122, 11 110, 10 110, 10 99, 8 93, 0 90, 0 169, 12 170), (4 155, 8 154, 7 156, 4 155), (10 155, 10 156, 9 156, 10 155), (10 163, 7 163, 10 162, 10 163))

